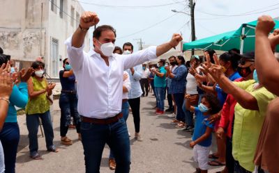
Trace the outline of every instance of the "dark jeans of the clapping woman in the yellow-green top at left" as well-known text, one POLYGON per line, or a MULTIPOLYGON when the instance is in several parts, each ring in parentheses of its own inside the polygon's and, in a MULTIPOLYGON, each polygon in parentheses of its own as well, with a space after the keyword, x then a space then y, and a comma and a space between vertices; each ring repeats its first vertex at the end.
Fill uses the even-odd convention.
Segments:
POLYGON ((27 115, 27 129, 29 137, 29 150, 30 156, 36 156, 38 154, 38 127, 39 127, 39 118, 42 120, 43 129, 45 132, 45 143, 47 149, 52 149, 54 133, 52 129, 52 120, 50 117, 50 110, 47 110, 45 113, 36 113, 32 115, 27 115))

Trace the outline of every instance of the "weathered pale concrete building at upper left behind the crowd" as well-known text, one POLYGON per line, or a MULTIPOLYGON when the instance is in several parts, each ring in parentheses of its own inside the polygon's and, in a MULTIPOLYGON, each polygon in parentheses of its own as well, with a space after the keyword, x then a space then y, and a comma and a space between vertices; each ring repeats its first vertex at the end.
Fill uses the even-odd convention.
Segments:
MULTIPOLYGON (((1 0, 0 47, 20 67, 43 56, 47 74, 59 76, 67 57, 64 41, 79 25, 84 9, 72 0, 1 0)), ((85 51, 89 51, 86 36, 85 51)))

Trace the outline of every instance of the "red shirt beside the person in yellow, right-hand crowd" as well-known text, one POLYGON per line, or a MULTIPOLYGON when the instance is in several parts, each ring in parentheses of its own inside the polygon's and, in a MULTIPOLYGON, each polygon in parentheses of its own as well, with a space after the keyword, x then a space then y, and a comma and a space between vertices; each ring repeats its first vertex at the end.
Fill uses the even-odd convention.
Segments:
MULTIPOLYGON (((243 80, 243 78, 240 78, 236 79, 234 82, 241 82, 243 80)), ((221 119, 218 125, 227 131, 227 136, 229 138, 232 138, 232 121, 234 120, 234 106, 236 106, 236 103, 237 101, 234 99, 232 94, 227 94, 227 99, 223 105, 221 119)))

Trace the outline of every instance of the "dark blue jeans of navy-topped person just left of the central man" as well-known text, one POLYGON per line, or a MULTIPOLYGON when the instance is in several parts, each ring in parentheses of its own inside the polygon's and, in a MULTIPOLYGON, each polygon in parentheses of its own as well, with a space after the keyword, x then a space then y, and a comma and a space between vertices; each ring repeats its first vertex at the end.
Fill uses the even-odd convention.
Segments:
POLYGON ((77 133, 80 133, 80 114, 77 112, 77 95, 62 92, 59 98, 61 109, 60 135, 65 137, 70 125, 70 117, 73 117, 77 133))

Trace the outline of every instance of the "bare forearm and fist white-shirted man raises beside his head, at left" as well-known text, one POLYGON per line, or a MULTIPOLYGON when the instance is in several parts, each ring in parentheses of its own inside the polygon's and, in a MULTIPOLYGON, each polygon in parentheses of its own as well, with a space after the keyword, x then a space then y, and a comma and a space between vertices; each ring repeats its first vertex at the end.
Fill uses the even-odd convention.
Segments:
POLYGON ((82 47, 87 30, 91 26, 98 24, 99 20, 100 19, 98 18, 98 15, 96 13, 90 11, 84 12, 80 17, 80 26, 73 34, 72 46, 77 48, 82 47))

